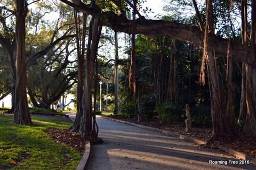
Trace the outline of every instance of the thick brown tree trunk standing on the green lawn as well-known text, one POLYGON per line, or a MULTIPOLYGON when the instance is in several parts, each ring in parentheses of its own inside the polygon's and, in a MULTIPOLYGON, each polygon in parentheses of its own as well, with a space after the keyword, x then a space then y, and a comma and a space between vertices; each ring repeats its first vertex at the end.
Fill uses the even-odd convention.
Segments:
POLYGON ((31 125, 31 118, 28 111, 27 100, 27 73, 25 57, 25 1, 17 0, 17 18, 16 18, 16 40, 17 40, 17 81, 15 89, 15 109, 13 124, 31 125))

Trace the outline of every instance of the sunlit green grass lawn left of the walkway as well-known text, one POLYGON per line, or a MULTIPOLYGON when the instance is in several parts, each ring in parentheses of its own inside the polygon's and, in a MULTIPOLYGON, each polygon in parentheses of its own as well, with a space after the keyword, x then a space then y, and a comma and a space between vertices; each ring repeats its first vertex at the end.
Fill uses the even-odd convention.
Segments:
POLYGON ((0 115, 0 169, 76 169, 81 155, 55 143, 46 129, 68 129, 71 122, 32 117, 33 126, 11 124, 13 116, 0 115))

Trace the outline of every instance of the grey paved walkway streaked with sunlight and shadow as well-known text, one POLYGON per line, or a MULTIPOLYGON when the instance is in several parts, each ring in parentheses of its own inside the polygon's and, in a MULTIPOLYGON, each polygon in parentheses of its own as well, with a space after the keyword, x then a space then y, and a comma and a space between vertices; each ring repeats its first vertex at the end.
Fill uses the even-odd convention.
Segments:
POLYGON ((97 117, 99 137, 88 170, 256 169, 233 156, 135 126, 97 117))

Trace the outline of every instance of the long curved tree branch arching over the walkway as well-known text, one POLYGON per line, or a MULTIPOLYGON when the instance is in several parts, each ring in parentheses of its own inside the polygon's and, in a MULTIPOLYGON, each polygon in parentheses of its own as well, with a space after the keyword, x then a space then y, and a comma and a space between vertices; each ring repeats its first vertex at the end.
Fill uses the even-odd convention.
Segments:
MULTIPOLYGON (((84 13, 94 15, 95 12, 102 12, 100 8, 96 5, 76 5, 67 0, 60 0, 63 3, 66 3, 72 7, 75 7, 77 10, 84 13)), ((131 34, 131 20, 125 18, 123 15, 118 16, 114 12, 105 12, 100 14, 101 24, 106 25, 107 27, 113 29, 114 31, 125 32, 131 34)), ((183 41, 188 41, 191 44, 196 46, 203 47, 204 43, 204 32, 199 28, 191 27, 187 24, 171 22, 171 21, 161 21, 161 20, 146 20, 146 19, 137 19, 136 20, 136 33, 141 33, 144 35, 164 35, 174 37, 183 41)), ((224 38, 212 36, 212 43, 210 44, 211 48, 214 48, 215 52, 225 54, 227 53, 228 40, 224 38)), ((252 63, 248 60, 249 47, 238 42, 230 42, 230 55, 237 58, 240 62, 245 62, 255 66, 255 63, 252 63)))

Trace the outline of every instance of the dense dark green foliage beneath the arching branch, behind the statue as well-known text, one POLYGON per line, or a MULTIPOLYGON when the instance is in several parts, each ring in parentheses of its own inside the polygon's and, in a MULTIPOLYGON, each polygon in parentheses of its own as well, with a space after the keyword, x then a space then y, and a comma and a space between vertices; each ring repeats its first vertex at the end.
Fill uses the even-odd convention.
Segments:
POLYGON ((121 113, 134 116, 140 111, 147 120, 155 116, 170 124, 183 121, 185 104, 210 103, 209 87, 198 82, 202 56, 199 48, 169 37, 145 35, 137 36, 136 47, 137 90, 132 94, 128 87, 127 62, 122 68, 121 113))

